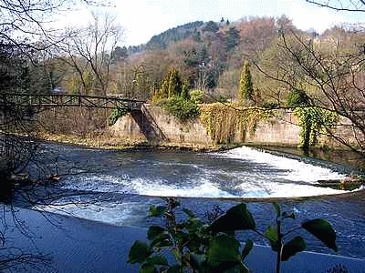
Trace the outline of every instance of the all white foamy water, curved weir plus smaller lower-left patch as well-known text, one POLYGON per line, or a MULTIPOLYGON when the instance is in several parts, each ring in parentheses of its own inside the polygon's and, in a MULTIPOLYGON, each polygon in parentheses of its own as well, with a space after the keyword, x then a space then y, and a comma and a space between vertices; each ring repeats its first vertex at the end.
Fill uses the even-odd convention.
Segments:
POLYGON ((147 217, 150 204, 156 201, 153 197, 313 197, 346 192, 315 186, 318 180, 341 179, 346 177, 343 174, 254 148, 238 147, 205 156, 203 161, 190 158, 189 162, 170 158, 160 158, 159 161, 146 159, 143 164, 140 160, 135 162, 135 167, 121 168, 117 172, 85 174, 61 180, 62 187, 68 189, 151 196, 147 201, 124 202, 120 196, 118 204, 113 204, 113 201, 86 202, 83 206, 76 206, 66 201, 66 205, 60 202, 58 206, 38 208, 114 225, 133 225, 147 217), (199 162, 195 164, 195 161, 199 162))

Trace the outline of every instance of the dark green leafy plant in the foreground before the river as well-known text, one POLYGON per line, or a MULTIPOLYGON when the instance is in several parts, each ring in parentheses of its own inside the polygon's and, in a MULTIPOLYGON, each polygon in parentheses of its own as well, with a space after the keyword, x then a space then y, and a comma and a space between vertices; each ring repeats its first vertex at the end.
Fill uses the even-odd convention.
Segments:
MULTIPOLYGON (((305 229, 318 238, 328 248, 335 251, 336 233, 324 219, 313 219, 283 233, 282 223, 295 219, 293 213, 276 209, 276 224, 269 226, 266 232, 257 229, 255 219, 246 205, 241 203, 231 207, 225 214, 203 222, 192 211, 180 206, 174 198, 164 198, 166 206, 150 208, 151 217, 162 217, 165 227, 151 226, 147 233, 150 243, 136 241, 130 248, 129 262, 140 264, 140 272, 249 272, 245 265, 254 243, 245 241, 242 249, 235 236, 238 230, 252 230, 266 238, 276 252, 276 272, 280 272, 282 261, 287 261, 306 248, 304 238, 289 237, 298 229, 305 229), (181 209, 186 216, 177 221, 176 209, 181 209), (173 256, 169 260, 166 257, 173 256)), ((212 216, 212 214, 210 214, 212 216)))

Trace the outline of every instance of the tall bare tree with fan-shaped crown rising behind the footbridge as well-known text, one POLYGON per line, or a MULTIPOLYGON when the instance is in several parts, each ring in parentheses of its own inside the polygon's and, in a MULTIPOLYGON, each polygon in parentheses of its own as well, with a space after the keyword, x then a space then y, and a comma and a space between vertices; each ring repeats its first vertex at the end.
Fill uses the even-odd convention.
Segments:
POLYGON ((108 93, 113 53, 122 35, 115 16, 93 14, 93 23, 69 29, 67 39, 57 45, 56 51, 61 59, 78 75, 83 89, 80 93, 108 93))

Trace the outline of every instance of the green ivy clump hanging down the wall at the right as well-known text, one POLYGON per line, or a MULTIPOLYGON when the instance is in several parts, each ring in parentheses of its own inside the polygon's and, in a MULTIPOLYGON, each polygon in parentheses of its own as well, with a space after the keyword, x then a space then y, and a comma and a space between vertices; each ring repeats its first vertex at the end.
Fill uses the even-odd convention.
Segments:
POLYGON ((299 147, 308 148, 318 143, 318 134, 326 133, 339 121, 339 116, 332 111, 319 107, 297 107, 294 109, 300 130, 299 147))

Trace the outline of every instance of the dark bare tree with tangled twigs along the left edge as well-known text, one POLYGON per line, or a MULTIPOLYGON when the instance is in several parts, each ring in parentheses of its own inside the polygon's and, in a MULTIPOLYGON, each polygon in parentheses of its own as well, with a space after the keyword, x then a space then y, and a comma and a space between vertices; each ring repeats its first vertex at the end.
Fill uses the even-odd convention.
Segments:
MULTIPOLYGON (((69 197, 68 192, 54 194, 49 184, 54 176, 46 162, 39 161, 36 153, 39 144, 34 138, 36 123, 32 108, 19 107, 6 102, 4 92, 29 92, 29 64, 39 62, 45 50, 63 39, 49 24, 58 12, 78 4, 99 5, 88 0, 0 0, 0 271, 16 271, 23 264, 42 268, 42 255, 24 252, 9 245, 6 231, 18 228, 27 236, 26 223, 16 217, 14 197, 16 194, 29 205, 55 204, 60 198, 69 197), (39 177, 30 178, 26 171, 37 168, 39 177), (39 191, 44 189, 44 191, 39 191), (10 221, 14 226, 10 226, 10 221)), ((101 1, 100 1, 101 3, 101 1)), ((98 56, 99 57, 99 56, 98 56)), ((44 62, 44 59, 41 60, 44 62)), ((43 64, 44 65, 44 64, 43 64)), ((31 72, 31 71, 30 71, 31 72)), ((48 154, 48 151, 45 151, 48 154)), ((54 173, 53 173, 54 174, 54 173)), ((69 173, 68 175, 73 175, 69 173)), ((69 200, 77 204, 77 200, 69 200)))

